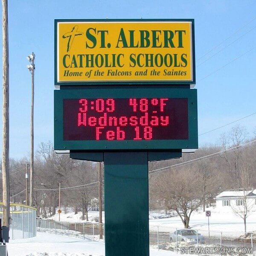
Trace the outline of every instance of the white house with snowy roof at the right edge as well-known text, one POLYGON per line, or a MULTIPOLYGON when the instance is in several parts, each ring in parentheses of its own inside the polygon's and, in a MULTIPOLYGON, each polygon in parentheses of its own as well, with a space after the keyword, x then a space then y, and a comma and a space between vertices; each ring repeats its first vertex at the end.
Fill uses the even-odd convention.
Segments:
POLYGON ((256 189, 248 191, 223 191, 215 197, 216 210, 220 212, 236 211, 245 206, 248 211, 256 211, 256 189))

